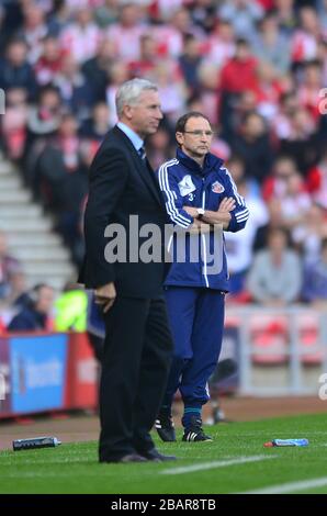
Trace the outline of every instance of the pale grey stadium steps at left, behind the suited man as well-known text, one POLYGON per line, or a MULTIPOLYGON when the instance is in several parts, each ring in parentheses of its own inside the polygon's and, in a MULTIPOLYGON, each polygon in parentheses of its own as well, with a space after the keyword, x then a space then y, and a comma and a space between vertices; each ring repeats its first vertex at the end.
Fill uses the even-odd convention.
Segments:
POLYGON ((77 278, 70 253, 54 222, 23 186, 18 169, 0 155, 0 229, 8 237, 9 250, 23 265, 29 288, 47 282, 61 290, 77 278))

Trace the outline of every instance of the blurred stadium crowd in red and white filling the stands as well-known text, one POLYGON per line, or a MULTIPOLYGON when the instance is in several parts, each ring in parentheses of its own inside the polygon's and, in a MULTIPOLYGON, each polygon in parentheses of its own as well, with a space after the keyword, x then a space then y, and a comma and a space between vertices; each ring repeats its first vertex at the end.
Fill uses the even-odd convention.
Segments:
MULTIPOLYGON (((117 87, 144 77, 165 114, 154 168, 174 155, 176 120, 201 111, 246 197, 246 228, 226 234, 229 302, 327 305, 327 1, 0 0, 0 56, 2 152, 77 263, 88 166, 117 87)), ((2 306, 24 290, 4 239, 2 306)))

